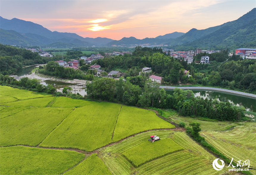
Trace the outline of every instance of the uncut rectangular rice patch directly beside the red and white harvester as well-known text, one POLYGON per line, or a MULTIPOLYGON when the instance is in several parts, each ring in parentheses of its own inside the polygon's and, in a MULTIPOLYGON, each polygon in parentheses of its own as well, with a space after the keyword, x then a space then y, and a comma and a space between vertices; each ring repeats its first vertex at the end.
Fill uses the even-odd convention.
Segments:
POLYGON ((144 141, 142 144, 127 150, 122 155, 126 157, 135 167, 138 167, 150 160, 160 158, 171 152, 182 150, 183 148, 177 145, 171 139, 160 139, 151 143, 144 141))

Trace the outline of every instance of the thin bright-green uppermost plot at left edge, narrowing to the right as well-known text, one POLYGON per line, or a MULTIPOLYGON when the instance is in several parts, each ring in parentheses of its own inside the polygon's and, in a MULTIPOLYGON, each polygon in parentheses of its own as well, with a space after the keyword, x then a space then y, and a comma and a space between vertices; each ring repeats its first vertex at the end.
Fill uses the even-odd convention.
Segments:
POLYGON ((29 90, 11 88, 9 86, 0 86, 0 88, 1 88, 0 95, 17 98, 18 100, 52 96, 52 95, 42 95, 29 90))

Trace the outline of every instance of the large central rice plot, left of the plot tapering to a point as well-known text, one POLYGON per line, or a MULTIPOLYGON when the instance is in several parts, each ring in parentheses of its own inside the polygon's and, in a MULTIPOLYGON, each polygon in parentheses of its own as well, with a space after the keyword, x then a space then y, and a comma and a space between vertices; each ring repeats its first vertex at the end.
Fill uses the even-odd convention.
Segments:
POLYGON ((93 151, 111 142, 121 105, 97 103, 76 108, 40 147, 93 151))

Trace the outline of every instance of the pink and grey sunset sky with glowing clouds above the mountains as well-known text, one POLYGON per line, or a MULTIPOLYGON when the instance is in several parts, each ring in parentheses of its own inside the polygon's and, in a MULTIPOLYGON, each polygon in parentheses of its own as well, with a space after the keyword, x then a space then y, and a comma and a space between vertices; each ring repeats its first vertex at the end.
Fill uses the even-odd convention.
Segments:
POLYGON ((0 16, 51 31, 119 40, 202 30, 236 20, 255 7, 255 0, 0 0, 0 16))

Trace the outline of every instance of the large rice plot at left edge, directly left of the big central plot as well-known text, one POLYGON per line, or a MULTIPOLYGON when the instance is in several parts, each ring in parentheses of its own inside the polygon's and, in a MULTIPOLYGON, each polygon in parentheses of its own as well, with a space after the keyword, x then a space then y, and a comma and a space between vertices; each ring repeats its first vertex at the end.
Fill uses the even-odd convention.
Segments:
POLYGON ((0 120, 0 146, 37 146, 72 108, 29 108, 0 120))

